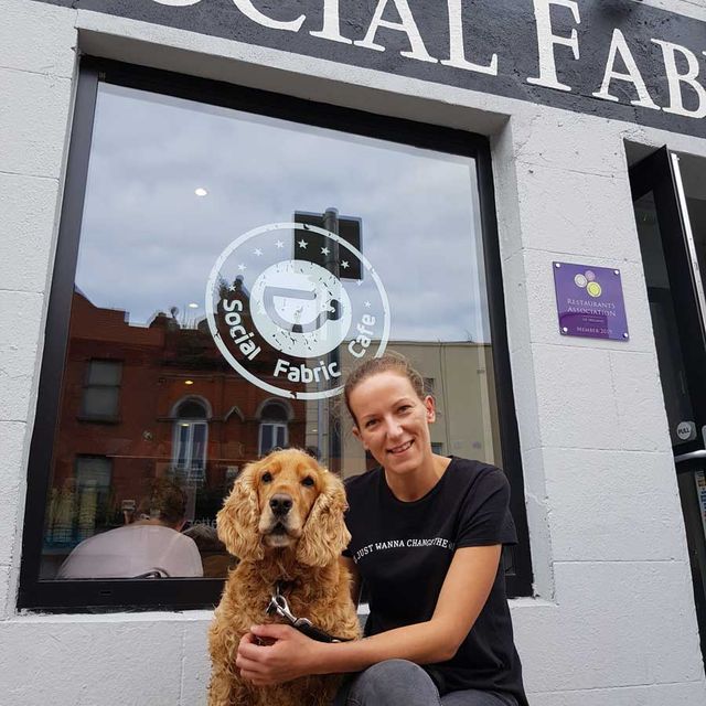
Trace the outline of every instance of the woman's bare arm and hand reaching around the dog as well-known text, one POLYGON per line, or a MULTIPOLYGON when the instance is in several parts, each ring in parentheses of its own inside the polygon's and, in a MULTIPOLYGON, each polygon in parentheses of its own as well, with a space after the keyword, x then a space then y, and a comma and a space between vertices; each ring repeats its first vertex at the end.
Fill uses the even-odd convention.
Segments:
POLYGON ((266 685, 306 674, 356 672, 389 659, 418 664, 450 660, 488 600, 501 549, 501 545, 457 549, 434 616, 426 622, 334 644, 314 642, 287 625, 256 625, 242 640, 236 665, 244 678, 266 685), (277 642, 259 646, 254 635, 277 642))

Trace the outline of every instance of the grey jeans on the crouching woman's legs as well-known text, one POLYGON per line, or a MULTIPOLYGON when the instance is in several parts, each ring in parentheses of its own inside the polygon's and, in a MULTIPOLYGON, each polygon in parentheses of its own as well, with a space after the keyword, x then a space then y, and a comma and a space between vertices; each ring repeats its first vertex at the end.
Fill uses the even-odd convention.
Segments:
POLYGON ((440 697, 419 665, 387 660, 347 677, 333 706, 517 706, 517 702, 510 694, 477 689, 440 697))

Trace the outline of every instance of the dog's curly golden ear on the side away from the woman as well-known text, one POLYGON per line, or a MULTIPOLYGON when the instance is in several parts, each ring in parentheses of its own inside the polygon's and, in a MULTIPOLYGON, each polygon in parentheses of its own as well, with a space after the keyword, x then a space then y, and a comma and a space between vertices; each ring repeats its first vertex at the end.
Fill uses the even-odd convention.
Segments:
POLYGON ((216 515, 218 539, 238 559, 260 560, 265 550, 257 532, 259 506, 255 490, 255 463, 245 467, 216 515))

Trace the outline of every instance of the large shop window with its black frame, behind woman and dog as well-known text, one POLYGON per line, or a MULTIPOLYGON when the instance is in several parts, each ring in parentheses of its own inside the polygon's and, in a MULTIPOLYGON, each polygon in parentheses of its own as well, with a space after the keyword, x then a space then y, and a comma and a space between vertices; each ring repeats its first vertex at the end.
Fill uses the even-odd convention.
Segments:
POLYGON ((434 392, 435 448, 510 477, 521 545, 507 586, 528 595, 493 227, 484 138, 84 58, 21 606, 216 602, 229 559, 215 515, 238 471, 292 446, 363 472, 341 385, 385 350, 434 392), (83 537, 139 520, 159 485, 185 494, 170 526, 197 546, 204 578, 57 575, 83 537))

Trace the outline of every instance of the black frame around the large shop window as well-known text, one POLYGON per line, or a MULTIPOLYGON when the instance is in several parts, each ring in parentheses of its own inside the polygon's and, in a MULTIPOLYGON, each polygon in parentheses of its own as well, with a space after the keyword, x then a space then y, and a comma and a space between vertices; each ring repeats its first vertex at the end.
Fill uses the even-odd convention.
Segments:
POLYGON ((510 367, 491 151, 488 138, 462 130, 373 115, 362 110, 239 87, 223 82, 84 56, 81 61, 74 106, 36 415, 30 446, 18 607, 41 609, 45 612, 203 609, 218 602, 224 584, 224 579, 210 578, 174 578, 168 581, 150 579, 39 579, 46 494, 51 480, 53 441, 60 414, 72 296, 99 82, 389 142, 470 157, 475 160, 502 466, 513 488, 511 506, 520 539, 518 545, 512 552, 513 570, 506 574, 506 581, 510 596, 531 596, 532 563, 524 507, 520 437, 510 367))

